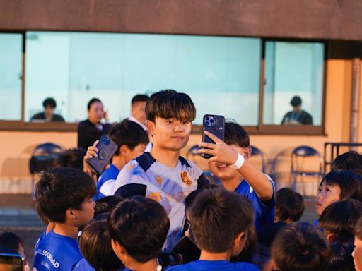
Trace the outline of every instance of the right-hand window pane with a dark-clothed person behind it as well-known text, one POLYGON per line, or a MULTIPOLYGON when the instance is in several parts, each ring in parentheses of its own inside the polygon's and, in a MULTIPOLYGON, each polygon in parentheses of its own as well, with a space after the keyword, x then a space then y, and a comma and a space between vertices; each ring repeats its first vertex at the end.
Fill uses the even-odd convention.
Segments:
POLYGON ((324 44, 266 42, 264 124, 322 123, 324 44))

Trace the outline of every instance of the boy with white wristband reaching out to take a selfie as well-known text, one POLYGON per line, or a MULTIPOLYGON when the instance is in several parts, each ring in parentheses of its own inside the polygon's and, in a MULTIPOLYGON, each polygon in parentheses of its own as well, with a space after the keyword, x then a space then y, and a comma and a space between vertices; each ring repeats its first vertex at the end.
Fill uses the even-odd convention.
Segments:
POLYGON ((274 222, 274 183, 247 159, 251 155, 249 135, 238 124, 225 124, 225 142, 205 131, 216 144, 200 143, 200 153, 212 155, 210 171, 228 191, 245 195, 255 210, 255 229, 274 222), (208 148, 208 149, 206 149, 208 148))

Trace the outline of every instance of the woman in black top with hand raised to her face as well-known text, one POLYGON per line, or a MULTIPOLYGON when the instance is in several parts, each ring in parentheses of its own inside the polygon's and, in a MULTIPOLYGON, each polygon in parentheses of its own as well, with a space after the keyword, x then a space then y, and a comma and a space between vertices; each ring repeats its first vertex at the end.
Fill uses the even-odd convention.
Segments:
POLYGON ((103 118, 108 121, 107 112, 104 112, 102 102, 93 98, 88 102, 88 119, 78 125, 78 147, 87 149, 95 140, 110 131, 110 124, 100 123, 103 118))

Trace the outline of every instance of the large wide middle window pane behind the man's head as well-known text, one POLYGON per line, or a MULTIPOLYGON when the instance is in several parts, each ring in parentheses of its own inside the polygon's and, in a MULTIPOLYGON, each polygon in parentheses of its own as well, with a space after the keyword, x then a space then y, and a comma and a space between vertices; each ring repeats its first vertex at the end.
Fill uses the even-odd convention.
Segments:
POLYGON ((25 119, 53 97, 66 121, 81 121, 98 97, 119 121, 134 95, 173 88, 192 97, 195 124, 223 114, 257 125, 260 57, 255 38, 28 32, 25 119))

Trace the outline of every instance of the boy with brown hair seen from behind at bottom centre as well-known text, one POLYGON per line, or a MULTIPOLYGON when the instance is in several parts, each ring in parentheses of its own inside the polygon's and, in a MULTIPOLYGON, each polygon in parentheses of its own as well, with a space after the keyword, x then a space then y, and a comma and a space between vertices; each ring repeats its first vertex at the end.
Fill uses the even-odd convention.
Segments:
POLYGON ((192 234, 201 249, 199 260, 170 267, 170 271, 254 271, 256 265, 245 262, 231 263, 247 241, 252 227, 252 204, 244 196, 223 188, 199 193, 187 210, 192 234))

